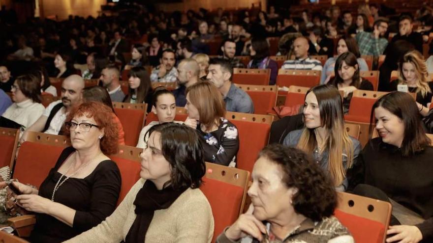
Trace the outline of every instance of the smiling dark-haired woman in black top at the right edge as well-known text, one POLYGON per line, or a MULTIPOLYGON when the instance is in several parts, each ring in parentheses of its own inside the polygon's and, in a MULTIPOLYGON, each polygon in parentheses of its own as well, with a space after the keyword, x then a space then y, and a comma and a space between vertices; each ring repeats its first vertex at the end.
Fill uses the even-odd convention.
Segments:
POLYGON ((354 193, 393 205, 386 242, 433 242, 433 148, 415 100, 391 92, 376 101, 373 115, 379 137, 365 146, 360 181, 350 188, 359 184, 354 193))

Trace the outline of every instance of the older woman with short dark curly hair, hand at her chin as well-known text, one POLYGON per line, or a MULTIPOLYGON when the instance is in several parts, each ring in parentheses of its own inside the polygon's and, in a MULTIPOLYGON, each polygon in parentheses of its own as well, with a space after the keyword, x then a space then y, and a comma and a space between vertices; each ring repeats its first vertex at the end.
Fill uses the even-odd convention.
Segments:
POLYGON ((268 145, 251 175, 251 205, 218 236, 217 243, 354 242, 333 216, 337 206, 333 182, 303 151, 268 145))

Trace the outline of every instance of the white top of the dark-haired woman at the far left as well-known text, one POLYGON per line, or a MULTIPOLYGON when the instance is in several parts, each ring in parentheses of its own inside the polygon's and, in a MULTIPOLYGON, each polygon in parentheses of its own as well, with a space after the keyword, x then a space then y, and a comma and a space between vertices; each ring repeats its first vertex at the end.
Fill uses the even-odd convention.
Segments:
POLYGON ((21 124, 21 130, 28 129, 44 112, 44 106, 34 103, 31 99, 14 103, 1 115, 4 118, 21 124))

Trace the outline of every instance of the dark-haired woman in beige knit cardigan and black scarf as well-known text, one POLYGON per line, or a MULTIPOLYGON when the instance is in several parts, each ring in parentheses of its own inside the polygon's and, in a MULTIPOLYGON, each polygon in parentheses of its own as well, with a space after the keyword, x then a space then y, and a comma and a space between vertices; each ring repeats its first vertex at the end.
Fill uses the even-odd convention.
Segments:
POLYGON ((195 131, 163 123, 149 130, 141 179, 105 221, 68 243, 210 243, 214 217, 199 189, 206 172, 195 131))

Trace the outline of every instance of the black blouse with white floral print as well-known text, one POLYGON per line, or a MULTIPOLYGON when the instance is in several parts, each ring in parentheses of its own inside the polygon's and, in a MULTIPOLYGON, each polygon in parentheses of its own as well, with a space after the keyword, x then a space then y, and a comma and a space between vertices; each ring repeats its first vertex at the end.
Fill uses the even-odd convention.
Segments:
POLYGON ((218 129, 211 133, 201 131, 197 125, 205 161, 235 167, 239 150, 238 129, 227 119, 221 117, 220 120, 218 129))

